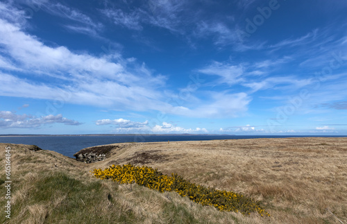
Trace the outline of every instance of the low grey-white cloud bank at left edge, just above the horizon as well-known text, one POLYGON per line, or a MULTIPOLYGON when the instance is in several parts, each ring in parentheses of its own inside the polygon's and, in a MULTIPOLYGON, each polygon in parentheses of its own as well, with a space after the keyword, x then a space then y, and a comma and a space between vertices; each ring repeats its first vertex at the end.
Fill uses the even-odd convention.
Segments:
POLYGON ((10 111, 0 111, 0 128, 40 128, 51 123, 64 123, 69 126, 79 126, 82 123, 62 117, 62 114, 35 117, 27 114, 16 114, 10 111))

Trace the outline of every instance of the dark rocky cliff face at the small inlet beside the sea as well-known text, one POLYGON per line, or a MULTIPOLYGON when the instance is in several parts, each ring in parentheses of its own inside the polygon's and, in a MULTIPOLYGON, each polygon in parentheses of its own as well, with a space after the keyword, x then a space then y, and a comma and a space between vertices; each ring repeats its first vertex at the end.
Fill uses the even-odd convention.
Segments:
POLYGON ((119 146, 93 146, 89 148, 83 148, 74 154, 76 160, 79 162, 85 162, 87 164, 91 162, 103 161, 110 155, 112 149, 119 148, 119 146))

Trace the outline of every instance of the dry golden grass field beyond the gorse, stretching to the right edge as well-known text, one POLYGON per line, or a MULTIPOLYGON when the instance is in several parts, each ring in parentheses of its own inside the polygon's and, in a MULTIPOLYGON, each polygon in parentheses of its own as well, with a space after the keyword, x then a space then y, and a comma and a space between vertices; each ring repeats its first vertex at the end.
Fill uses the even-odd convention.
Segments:
MULTIPOLYGON (((207 187, 245 193, 263 200, 273 223, 347 221, 347 139, 230 139, 124 144, 110 160, 179 173, 207 187), (151 160, 155 151, 156 160, 151 160), (158 159, 158 155, 162 159, 158 159), (137 161, 137 163, 136 163, 137 161)), ((104 168, 108 160, 90 164, 104 168)))

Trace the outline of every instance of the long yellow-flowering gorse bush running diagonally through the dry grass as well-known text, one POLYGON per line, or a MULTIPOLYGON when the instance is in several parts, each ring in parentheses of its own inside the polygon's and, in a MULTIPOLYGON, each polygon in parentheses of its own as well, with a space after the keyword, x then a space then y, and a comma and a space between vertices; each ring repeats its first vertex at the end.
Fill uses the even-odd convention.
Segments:
POLYGON ((171 177, 163 175, 157 169, 149 166, 133 166, 125 164, 123 166, 112 165, 110 168, 94 169, 91 171, 96 178, 112 179, 121 184, 137 183, 149 189, 156 189, 160 192, 176 191, 180 196, 187 196, 190 200, 201 205, 212 205, 221 211, 241 212, 244 215, 257 212, 261 216, 270 216, 251 198, 232 191, 220 191, 196 185, 183 179, 177 173, 172 173, 171 177))

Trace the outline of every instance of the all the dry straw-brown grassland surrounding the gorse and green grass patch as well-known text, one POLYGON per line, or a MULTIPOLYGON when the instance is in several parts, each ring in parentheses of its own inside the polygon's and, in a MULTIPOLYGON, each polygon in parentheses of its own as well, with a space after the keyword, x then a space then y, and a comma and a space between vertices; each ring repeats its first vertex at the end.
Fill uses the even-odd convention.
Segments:
MULTIPOLYGON (((7 145, 0 144, 0 147, 7 145)), ((31 183, 42 173, 55 172, 66 173, 83 184, 99 184, 103 196, 98 205, 88 207, 84 200, 91 196, 81 196, 85 199, 79 203, 81 209, 86 207, 90 216, 103 216, 104 220, 106 217, 112 221, 115 216, 130 211, 135 219, 127 216, 130 219, 124 223, 347 223, 347 138, 228 139, 115 145, 119 147, 110 152, 107 160, 93 164, 76 162, 48 150, 33 152, 24 145, 12 145, 12 175, 17 178, 18 186, 16 189, 15 182, 13 207, 22 202, 15 216, 17 223, 52 221, 54 219, 47 218, 53 215, 52 209, 69 200, 69 195, 62 191, 51 196, 49 205, 25 203, 35 191, 31 183), (212 207, 195 205, 175 192, 159 193, 136 184, 119 185, 97 180, 89 173, 92 169, 128 162, 151 166, 164 174, 178 173, 190 182, 206 187, 251 196, 262 201, 271 218, 219 212, 212 207), (185 219, 169 218, 180 217, 178 214, 185 219)), ((4 173, 3 167, 1 173, 4 173)), ((67 218, 60 223, 71 220, 67 218)))

